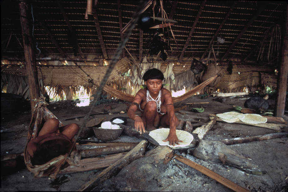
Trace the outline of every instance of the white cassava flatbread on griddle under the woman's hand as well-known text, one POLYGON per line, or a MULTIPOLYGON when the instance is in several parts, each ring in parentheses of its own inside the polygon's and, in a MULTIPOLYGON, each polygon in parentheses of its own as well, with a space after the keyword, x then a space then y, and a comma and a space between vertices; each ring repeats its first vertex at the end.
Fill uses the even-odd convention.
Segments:
POLYGON ((182 130, 176 130, 176 135, 179 140, 182 140, 183 142, 179 142, 180 145, 169 145, 169 141, 163 142, 169 134, 170 129, 169 128, 161 128, 161 129, 155 129, 153 131, 150 131, 149 135, 155 139, 160 145, 167 145, 171 148, 175 147, 185 147, 187 145, 190 145, 190 143, 193 141, 193 135, 188 133, 187 131, 182 130))

